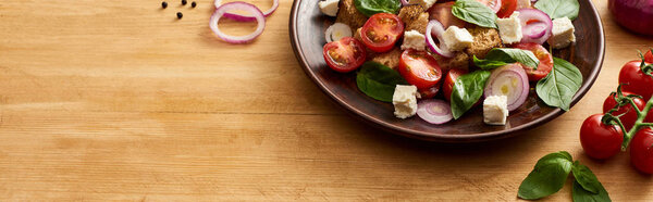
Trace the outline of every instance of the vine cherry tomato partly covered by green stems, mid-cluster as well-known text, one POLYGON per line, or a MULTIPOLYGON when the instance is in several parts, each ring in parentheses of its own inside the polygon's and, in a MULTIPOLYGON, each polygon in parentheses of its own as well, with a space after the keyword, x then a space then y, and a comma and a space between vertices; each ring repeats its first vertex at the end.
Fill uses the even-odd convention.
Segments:
MULTIPOLYGON (((629 96, 632 94, 630 92, 621 92, 624 93, 624 96, 629 96)), ((603 102, 603 113, 606 113, 607 111, 612 110, 613 108, 615 108, 615 105, 617 105, 617 101, 615 100, 616 93, 611 93, 609 97, 607 97, 605 99, 605 101, 603 102)), ((639 110, 643 110, 644 106, 646 105, 646 102, 644 102, 644 100, 639 99, 639 98, 634 98, 632 99, 632 101, 634 102, 634 105, 637 105, 637 108, 639 110)), ((624 105, 621 108, 619 108, 619 110, 617 110, 616 112, 613 112, 613 115, 620 115, 624 114, 621 117, 619 117, 619 119, 621 121, 621 123, 624 124, 624 127, 627 130, 630 130, 630 128, 632 128, 632 125, 634 125, 634 122, 637 121, 637 111, 634 109, 632 109, 632 105, 627 104, 624 105), (626 113, 628 112, 628 113, 626 113)), ((649 117, 653 117, 651 115, 649 115, 649 117)))

